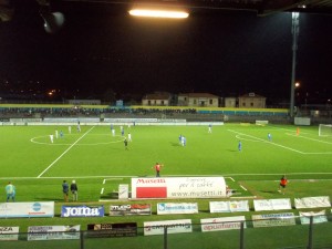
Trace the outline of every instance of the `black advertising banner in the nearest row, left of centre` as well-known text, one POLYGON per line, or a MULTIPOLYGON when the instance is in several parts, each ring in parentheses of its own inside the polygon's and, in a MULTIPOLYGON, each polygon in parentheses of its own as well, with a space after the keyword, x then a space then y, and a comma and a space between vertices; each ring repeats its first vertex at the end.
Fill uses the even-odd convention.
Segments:
POLYGON ((93 238, 135 237, 137 236, 137 224, 89 224, 87 236, 93 238))

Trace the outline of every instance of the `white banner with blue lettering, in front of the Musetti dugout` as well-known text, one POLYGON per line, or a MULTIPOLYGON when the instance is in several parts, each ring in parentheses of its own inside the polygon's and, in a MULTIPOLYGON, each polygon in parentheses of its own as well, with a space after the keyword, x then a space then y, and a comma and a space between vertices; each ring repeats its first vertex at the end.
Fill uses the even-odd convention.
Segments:
POLYGON ((195 204, 157 204, 157 215, 198 214, 198 205, 195 204))

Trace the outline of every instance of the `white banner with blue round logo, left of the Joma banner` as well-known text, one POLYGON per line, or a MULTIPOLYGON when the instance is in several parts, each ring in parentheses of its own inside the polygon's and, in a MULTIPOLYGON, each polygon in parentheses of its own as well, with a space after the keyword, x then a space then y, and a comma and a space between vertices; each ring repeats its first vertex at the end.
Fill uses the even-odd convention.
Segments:
POLYGON ((0 218, 54 217, 54 201, 0 204, 0 218))

